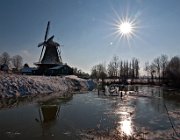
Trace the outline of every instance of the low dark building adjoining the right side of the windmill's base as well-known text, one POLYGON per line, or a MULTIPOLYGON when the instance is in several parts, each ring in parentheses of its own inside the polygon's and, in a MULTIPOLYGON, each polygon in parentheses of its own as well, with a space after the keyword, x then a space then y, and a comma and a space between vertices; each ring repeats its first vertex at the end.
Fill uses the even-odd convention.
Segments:
POLYGON ((46 75, 57 76, 57 75, 72 75, 73 69, 67 64, 61 64, 52 68, 49 68, 46 75))

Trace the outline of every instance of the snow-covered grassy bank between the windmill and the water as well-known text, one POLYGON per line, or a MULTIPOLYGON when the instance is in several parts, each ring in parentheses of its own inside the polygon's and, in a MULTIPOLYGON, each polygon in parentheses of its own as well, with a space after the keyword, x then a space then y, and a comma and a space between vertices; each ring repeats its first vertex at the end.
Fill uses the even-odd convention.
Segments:
POLYGON ((71 76, 27 76, 15 74, 0 74, 0 98, 59 93, 60 95, 75 90, 91 90, 92 80, 71 76))

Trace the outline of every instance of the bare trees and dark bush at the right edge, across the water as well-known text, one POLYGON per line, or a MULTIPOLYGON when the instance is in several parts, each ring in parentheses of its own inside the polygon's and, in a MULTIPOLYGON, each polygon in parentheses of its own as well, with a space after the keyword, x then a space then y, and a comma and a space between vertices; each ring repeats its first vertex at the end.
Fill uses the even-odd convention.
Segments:
POLYGON ((168 56, 162 54, 155 58, 151 63, 146 62, 144 70, 150 81, 158 79, 159 84, 170 84, 179 87, 180 84, 180 57, 174 56, 170 60, 168 56))

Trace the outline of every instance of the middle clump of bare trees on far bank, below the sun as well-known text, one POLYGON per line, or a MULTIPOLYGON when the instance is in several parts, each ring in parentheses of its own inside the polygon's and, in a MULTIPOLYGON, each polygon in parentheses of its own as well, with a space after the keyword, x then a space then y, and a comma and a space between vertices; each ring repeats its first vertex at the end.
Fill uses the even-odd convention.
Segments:
POLYGON ((132 58, 131 61, 121 60, 118 56, 114 56, 107 67, 102 63, 92 67, 91 78, 103 81, 107 77, 119 79, 121 82, 139 78, 139 60, 137 58, 132 58))

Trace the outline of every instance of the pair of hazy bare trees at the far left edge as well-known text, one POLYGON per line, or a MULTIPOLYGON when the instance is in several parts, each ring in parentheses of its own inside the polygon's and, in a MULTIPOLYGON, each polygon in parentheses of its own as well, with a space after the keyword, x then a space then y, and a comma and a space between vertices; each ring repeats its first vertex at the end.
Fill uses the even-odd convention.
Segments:
POLYGON ((16 71, 22 68, 23 58, 20 55, 10 56, 7 52, 3 52, 0 55, 0 65, 11 65, 16 71))

